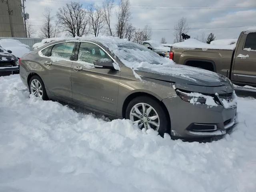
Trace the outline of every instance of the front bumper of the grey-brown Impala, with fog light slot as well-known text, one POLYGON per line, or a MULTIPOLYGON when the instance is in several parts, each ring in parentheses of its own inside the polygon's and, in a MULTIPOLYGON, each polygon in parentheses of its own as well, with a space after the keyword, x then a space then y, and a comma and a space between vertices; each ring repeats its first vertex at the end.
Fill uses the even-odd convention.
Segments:
POLYGON ((179 96, 162 100, 171 120, 171 135, 180 138, 201 138, 226 134, 234 126, 236 107, 191 104, 179 96))

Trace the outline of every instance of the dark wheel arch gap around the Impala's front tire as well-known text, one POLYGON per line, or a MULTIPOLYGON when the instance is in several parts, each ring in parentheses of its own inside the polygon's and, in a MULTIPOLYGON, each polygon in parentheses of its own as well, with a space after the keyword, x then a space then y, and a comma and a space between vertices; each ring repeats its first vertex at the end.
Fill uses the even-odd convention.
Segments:
MULTIPOLYGON (((165 104, 160 101, 158 98, 156 98, 155 96, 153 96, 152 94, 146 93, 146 92, 134 92, 132 94, 130 94, 128 97, 126 97, 126 99, 124 100, 123 106, 122 106, 122 118, 126 118, 126 108, 128 107, 129 103, 136 97, 140 97, 140 96, 146 96, 149 98, 152 98, 154 100, 156 100, 156 102, 158 102, 158 104, 162 107, 162 109, 164 110, 165 114, 166 114, 166 118, 169 122, 169 128, 171 127, 171 121, 170 121, 170 114, 165 106, 165 104)), ((167 132, 170 134, 170 129, 167 130, 167 132)))

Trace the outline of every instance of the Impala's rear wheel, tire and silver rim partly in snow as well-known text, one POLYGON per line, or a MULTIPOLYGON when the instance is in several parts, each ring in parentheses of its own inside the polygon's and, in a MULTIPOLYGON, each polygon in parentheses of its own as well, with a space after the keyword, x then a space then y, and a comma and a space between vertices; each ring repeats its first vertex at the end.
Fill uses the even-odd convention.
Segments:
POLYGON ((28 87, 30 94, 33 94, 38 98, 42 98, 42 100, 48 100, 48 96, 46 94, 46 90, 44 87, 44 82, 39 76, 32 76, 32 78, 29 81, 28 87))

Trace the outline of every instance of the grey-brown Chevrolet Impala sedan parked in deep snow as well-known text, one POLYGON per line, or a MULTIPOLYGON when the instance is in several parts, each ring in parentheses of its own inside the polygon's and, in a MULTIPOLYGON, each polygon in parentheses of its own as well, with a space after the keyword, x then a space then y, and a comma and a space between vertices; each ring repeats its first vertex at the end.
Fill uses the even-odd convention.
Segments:
POLYGON ((46 44, 21 58, 20 77, 43 100, 130 119, 160 135, 211 137, 235 124, 236 96, 228 78, 173 64, 119 38, 46 44))

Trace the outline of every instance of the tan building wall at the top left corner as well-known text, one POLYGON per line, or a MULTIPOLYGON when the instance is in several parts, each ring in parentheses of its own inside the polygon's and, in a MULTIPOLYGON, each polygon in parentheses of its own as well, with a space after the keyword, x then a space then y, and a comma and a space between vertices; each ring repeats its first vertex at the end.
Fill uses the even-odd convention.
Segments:
POLYGON ((21 0, 0 0, 0 37, 12 37, 10 22, 14 37, 25 37, 24 22, 22 18, 21 0), (8 6, 10 18, 8 14, 8 6))

